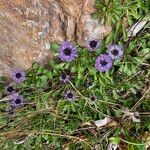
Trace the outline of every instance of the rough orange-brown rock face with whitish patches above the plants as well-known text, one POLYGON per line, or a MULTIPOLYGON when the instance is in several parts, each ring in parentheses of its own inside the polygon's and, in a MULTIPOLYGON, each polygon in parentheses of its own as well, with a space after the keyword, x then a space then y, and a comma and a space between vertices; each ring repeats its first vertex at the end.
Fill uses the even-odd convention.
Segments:
POLYGON ((95 0, 0 0, 0 75, 50 58, 50 42, 102 39, 110 26, 91 18, 95 0))

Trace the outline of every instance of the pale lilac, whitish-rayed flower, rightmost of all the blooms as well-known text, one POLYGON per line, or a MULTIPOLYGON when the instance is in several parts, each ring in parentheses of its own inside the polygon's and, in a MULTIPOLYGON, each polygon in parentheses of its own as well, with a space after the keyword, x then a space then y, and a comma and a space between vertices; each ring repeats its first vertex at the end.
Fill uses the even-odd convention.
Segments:
POLYGON ((112 44, 109 46, 107 53, 113 60, 120 59, 123 56, 123 47, 120 45, 112 44))

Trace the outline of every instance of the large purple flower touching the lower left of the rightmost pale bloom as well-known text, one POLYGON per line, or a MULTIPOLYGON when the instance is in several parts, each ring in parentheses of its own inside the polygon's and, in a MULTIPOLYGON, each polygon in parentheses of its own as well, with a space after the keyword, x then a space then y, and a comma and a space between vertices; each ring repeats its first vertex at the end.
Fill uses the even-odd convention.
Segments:
POLYGON ((98 56, 95 62, 95 68, 100 72, 109 71, 112 65, 113 65, 113 60, 107 54, 102 54, 98 56))

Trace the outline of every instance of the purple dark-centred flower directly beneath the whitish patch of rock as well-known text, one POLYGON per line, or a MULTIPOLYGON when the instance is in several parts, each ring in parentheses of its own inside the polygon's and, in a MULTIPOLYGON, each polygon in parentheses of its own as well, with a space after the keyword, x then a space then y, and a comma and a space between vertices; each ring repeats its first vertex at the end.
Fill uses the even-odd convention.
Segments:
POLYGON ((87 40, 87 43, 86 43, 86 47, 90 50, 90 51, 95 51, 97 50, 102 44, 102 41, 100 40, 97 40, 97 39, 90 39, 90 40, 87 40))

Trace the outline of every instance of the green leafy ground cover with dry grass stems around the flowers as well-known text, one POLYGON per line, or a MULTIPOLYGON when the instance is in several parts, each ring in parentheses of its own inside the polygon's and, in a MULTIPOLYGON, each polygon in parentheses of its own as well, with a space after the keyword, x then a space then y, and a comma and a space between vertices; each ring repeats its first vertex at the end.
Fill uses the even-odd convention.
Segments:
MULTIPOLYGON (((78 58, 71 62, 58 59, 59 44, 51 44, 54 60, 47 65, 37 63, 26 72, 26 81, 16 90, 26 99, 24 107, 14 114, 6 111, 9 101, 0 105, 1 149, 106 149, 108 139, 124 149, 144 150, 145 134, 150 132, 149 23, 134 37, 127 36, 127 28, 148 18, 146 0, 97 0, 94 18, 109 24, 112 32, 95 52, 77 45, 78 58), (108 45, 124 46, 124 56, 114 62, 109 72, 101 73, 94 67, 97 56, 107 51, 108 45), (62 83, 62 73, 70 80, 62 83), (87 86, 87 82, 91 86, 87 86), (76 93, 76 100, 64 97, 66 90, 76 93), (95 96, 91 103, 90 97, 95 96), (140 121, 123 119, 126 108, 138 112, 140 121), (95 120, 111 117, 112 124, 97 128, 95 120), (137 138, 138 137, 138 138, 137 138)), ((0 97, 5 96, 7 79, 0 78, 0 97)))

